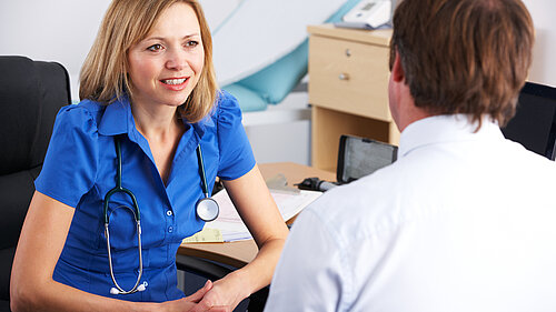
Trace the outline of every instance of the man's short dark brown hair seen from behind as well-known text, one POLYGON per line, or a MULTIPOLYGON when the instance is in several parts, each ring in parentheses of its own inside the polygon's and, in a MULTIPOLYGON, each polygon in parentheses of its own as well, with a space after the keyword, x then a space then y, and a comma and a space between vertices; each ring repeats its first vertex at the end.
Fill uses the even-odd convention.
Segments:
POLYGON ((520 0, 404 0, 394 14, 390 69, 399 53, 416 107, 433 114, 514 115, 532 62, 534 29, 520 0))

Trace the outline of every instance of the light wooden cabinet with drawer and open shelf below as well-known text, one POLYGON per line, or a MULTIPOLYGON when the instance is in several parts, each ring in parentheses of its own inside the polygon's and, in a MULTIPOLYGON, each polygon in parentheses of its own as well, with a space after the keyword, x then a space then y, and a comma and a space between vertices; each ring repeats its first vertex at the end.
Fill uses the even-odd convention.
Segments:
POLYGON ((324 24, 308 31, 311 165, 336 171, 341 134, 398 144, 388 109, 391 30, 324 24))

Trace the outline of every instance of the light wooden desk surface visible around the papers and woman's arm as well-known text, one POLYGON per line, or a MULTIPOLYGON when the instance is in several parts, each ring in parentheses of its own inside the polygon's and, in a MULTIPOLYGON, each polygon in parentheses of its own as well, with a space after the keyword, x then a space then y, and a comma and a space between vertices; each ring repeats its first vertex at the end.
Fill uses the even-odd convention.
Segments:
MULTIPOLYGON (((265 179, 282 173, 288 181, 288 185, 294 185, 305 178, 311 177, 318 177, 326 181, 336 181, 335 173, 294 162, 259 163, 259 169, 265 179)), ((249 263, 257 255, 257 252, 258 248, 254 240, 228 243, 188 243, 178 249, 179 254, 217 261, 236 268, 249 263)))

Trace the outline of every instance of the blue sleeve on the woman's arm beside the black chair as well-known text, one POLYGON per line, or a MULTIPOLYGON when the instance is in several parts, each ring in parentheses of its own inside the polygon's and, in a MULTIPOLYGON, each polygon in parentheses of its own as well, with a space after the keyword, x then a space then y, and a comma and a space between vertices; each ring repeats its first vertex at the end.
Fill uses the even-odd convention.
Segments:
POLYGON ((37 191, 76 208, 95 183, 98 167, 98 131, 91 113, 68 105, 56 117, 54 129, 37 191))

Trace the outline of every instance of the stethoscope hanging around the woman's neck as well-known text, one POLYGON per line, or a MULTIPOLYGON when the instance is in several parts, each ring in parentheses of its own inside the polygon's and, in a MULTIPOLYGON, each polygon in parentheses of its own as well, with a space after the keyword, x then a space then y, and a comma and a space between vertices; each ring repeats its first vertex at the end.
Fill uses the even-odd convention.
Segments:
MULTIPOLYGON (((130 294, 135 293, 138 291, 145 291, 147 288, 148 283, 142 282, 140 283, 141 276, 142 276, 142 248, 141 248, 141 217, 139 214, 139 205, 137 204, 137 199, 130 190, 123 188, 121 185, 121 147, 120 147, 120 140, 118 137, 115 138, 115 145, 116 145, 116 158, 118 159, 118 165, 117 165, 117 175, 116 175, 116 187, 108 191, 108 193, 105 197, 105 235, 106 235, 106 244, 107 244, 107 250, 108 250, 108 263, 110 266, 110 276, 112 278, 112 282, 115 284, 115 288, 110 289, 111 294, 130 294), (138 241, 138 251, 139 251, 139 273, 137 275, 137 281, 136 284, 133 285, 132 289, 126 291, 123 290, 118 282, 116 281, 116 278, 113 275, 113 266, 112 266, 112 254, 110 251, 110 233, 108 231, 108 224, 110 223, 110 218, 108 217, 108 204, 110 202, 110 198, 116 194, 116 193, 125 193, 131 198, 132 205, 133 208, 129 208, 127 205, 123 205, 131 210, 133 213, 133 218, 136 220, 136 227, 137 227, 137 241, 138 241)), ((197 159, 199 161, 199 171, 201 175, 201 188, 202 192, 205 193, 205 198, 200 199, 196 203, 196 213, 199 219, 201 219, 205 222, 210 222, 214 221, 219 213, 219 207, 218 203, 209 197, 208 193, 208 185, 207 185, 207 177, 205 174, 205 164, 202 162, 202 152, 201 152, 201 147, 200 144, 197 145, 197 159)))

